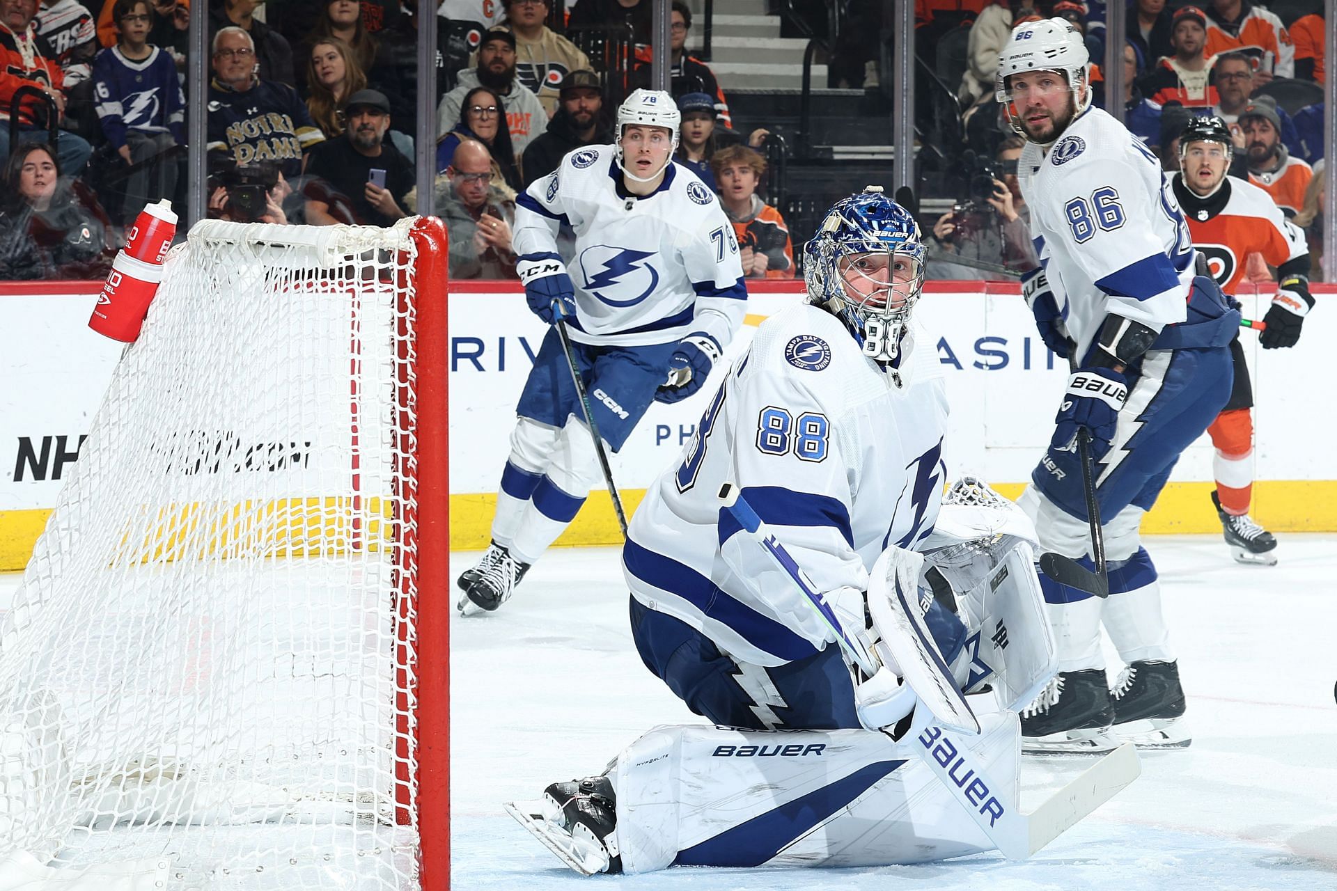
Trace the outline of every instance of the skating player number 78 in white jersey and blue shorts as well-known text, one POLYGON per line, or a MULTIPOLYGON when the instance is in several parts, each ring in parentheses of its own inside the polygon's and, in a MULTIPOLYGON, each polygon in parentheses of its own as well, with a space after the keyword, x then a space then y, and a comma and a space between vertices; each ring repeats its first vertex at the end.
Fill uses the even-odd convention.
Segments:
MULTIPOLYGON (((516 200, 512 243, 525 299, 544 322, 566 322, 594 423, 612 452, 652 401, 701 389, 747 305, 719 200, 671 160, 681 119, 667 92, 636 90, 618 108, 615 144, 571 152, 516 200), (575 231, 570 271, 559 226, 575 231)), ((500 606, 600 481, 555 329, 516 414, 492 544, 459 578, 461 610, 500 606)))

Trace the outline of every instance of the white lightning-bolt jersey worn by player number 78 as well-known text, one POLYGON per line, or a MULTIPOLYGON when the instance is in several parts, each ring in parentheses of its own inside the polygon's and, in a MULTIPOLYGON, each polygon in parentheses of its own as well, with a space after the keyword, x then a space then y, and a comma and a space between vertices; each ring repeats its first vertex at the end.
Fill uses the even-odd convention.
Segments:
POLYGON ((719 200, 675 163, 652 194, 620 198, 614 152, 578 148, 529 184, 516 200, 516 255, 556 256, 559 224, 575 231, 574 341, 667 343, 702 333, 723 349, 742 326, 747 290, 719 200))

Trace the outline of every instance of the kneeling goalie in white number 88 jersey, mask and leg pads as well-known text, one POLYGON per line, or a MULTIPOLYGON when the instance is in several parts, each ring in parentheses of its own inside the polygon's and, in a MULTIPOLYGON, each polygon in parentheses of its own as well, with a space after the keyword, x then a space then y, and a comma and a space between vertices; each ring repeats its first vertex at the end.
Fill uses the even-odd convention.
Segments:
POLYGON ((655 728, 603 775, 507 806, 574 868, 868 866, 995 847, 971 812, 1001 820, 1016 806, 1020 731, 1007 709, 1052 675, 1052 637, 1015 505, 957 485, 941 508, 956 533, 935 530, 947 397, 936 338, 912 317, 924 259, 913 216, 881 190, 838 202, 806 246, 806 305, 762 322, 681 462, 647 492, 623 549, 632 639, 714 727, 655 728), (916 757, 928 743, 906 728, 924 707, 901 695, 927 691, 901 668, 912 660, 874 644, 872 675, 848 665, 797 573, 722 509, 726 482, 842 628, 888 640, 880 616, 901 616, 967 691, 984 679, 1012 691, 979 707, 979 733, 961 743, 988 793, 963 800, 967 771, 940 783, 916 757))

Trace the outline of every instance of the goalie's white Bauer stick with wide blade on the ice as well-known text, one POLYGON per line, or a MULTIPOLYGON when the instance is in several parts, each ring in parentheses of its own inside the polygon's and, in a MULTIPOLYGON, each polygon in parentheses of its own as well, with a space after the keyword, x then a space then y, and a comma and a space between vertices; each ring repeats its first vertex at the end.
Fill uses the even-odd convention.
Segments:
MULTIPOLYGON (((774 558, 775 564, 785 570, 790 581, 830 625, 836 641, 850 660, 866 672, 866 665, 872 663, 868 648, 841 627, 836 613, 816 592, 808 573, 741 497, 738 488, 726 482, 719 490, 719 498, 730 516, 774 558)), ((935 665, 932 660, 927 664, 935 665)), ((941 668, 945 671, 945 667, 941 668)), ((960 688, 951 672, 939 679, 939 687, 948 685, 960 695, 960 688)), ((916 699, 920 699, 913 691, 910 692, 916 699)), ((957 804, 1009 860, 1024 860, 1036 854, 1095 808, 1114 797, 1142 772, 1136 748, 1131 743, 1124 743, 1046 799, 1038 808, 1023 812, 1019 806, 1001 801, 991 792, 991 789, 1001 789, 1003 787, 989 779, 979 757, 953 729, 935 720, 936 716, 928 703, 924 703, 923 699, 920 703, 925 707, 915 709, 909 732, 897 743, 908 747, 937 776, 957 804), (957 777, 972 779, 961 780, 957 777)), ((969 709, 968 705, 967 709, 969 709)), ((971 717, 973 719, 973 715, 971 717)), ((976 727, 979 725, 976 724, 976 727)))

